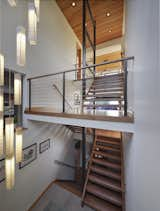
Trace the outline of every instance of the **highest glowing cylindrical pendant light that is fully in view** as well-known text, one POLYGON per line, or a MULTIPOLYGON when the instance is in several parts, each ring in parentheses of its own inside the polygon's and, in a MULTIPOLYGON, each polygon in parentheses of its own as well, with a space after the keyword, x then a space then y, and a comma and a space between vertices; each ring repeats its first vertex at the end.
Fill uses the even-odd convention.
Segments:
POLYGON ((28 39, 30 45, 37 44, 37 14, 32 2, 28 4, 28 39))

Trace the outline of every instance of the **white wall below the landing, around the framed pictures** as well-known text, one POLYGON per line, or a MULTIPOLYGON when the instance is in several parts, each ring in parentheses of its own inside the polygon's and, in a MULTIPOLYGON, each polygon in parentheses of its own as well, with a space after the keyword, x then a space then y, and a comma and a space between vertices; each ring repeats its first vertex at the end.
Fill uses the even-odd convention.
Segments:
POLYGON ((47 185, 55 179, 72 179, 74 171, 58 166, 55 160, 74 165, 72 132, 64 126, 45 123, 29 123, 24 133, 24 146, 38 144, 38 157, 28 166, 16 167, 16 185, 11 191, 0 183, 0 204, 3 211, 26 211, 47 185), (51 148, 39 154, 39 143, 51 139, 51 148))

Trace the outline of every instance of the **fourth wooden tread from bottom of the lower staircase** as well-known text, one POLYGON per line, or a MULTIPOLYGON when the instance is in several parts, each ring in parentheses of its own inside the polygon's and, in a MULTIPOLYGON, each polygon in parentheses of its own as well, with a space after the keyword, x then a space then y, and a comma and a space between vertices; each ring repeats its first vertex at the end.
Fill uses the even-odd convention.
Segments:
POLYGON ((101 167, 101 166, 93 165, 93 166, 91 166, 91 171, 95 172, 96 174, 100 174, 102 176, 113 178, 113 179, 118 180, 118 181, 121 180, 120 173, 118 173, 118 172, 114 173, 111 170, 106 169, 106 168, 101 167))

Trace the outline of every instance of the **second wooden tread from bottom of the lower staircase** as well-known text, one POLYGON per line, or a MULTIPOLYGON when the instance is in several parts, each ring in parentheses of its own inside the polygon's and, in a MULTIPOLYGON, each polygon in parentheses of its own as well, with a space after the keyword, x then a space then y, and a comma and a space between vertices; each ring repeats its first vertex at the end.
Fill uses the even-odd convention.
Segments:
POLYGON ((89 183, 87 185, 87 192, 105 200, 115 204, 117 206, 122 205, 122 198, 119 193, 114 192, 112 190, 105 189, 101 186, 97 186, 95 184, 89 183))

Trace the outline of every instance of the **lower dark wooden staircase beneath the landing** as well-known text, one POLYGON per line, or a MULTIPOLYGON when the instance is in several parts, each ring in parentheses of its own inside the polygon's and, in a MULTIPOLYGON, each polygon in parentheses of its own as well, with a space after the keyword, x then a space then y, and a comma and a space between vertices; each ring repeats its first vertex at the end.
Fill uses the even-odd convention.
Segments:
POLYGON ((124 211, 124 169, 121 138, 96 135, 82 205, 98 211, 124 211))

